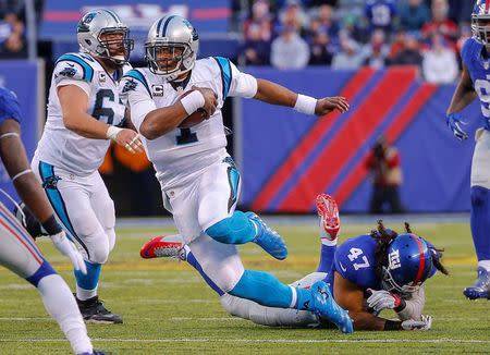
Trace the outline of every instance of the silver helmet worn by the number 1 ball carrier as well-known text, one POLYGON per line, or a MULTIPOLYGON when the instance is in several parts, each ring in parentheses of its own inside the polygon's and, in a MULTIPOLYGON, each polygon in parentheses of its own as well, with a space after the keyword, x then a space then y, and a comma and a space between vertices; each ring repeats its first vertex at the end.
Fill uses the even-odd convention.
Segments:
POLYGON ((194 26, 182 16, 168 15, 157 20, 148 32, 146 61, 152 73, 172 82, 194 68, 198 48, 194 26))

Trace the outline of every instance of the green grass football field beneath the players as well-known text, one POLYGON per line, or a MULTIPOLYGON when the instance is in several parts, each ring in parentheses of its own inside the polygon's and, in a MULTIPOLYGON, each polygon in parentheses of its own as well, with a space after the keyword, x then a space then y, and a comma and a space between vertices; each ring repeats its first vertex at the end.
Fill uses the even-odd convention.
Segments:
MULTIPOLYGON (((354 236, 372 225, 344 225, 354 236)), ((390 225, 402 229, 401 225, 390 225)), ((124 325, 88 325, 96 348, 111 354, 166 353, 490 353, 490 302, 468 302, 462 290, 475 278, 476 258, 467 224, 419 224, 414 232, 445 247, 450 277, 427 282, 425 314, 434 318, 429 332, 356 332, 267 328, 229 317, 216 294, 185 262, 143 260, 138 252, 150 236, 171 230, 120 229, 115 249, 99 286, 108 308, 124 325)), ((255 245, 241 247, 246 267, 269 270, 284 282, 311 272, 318 262, 315 225, 281 225, 290 256, 275 261, 255 245)), ((342 241, 342 240, 341 240, 342 241)), ((73 285, 70 264, 39 242, 48 260, 73 285)), ((385 317, 394 314, 385 313, 385 317)), ((34 287, 0 268, 0 354, 69 354, 58 325, 48 317, 34 287)))

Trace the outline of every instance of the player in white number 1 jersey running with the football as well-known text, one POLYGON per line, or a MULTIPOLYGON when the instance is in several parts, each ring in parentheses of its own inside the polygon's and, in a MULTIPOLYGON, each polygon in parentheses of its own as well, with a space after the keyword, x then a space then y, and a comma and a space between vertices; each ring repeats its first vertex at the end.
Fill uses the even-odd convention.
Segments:
POLYGON ((127 96, 133 123, 157 171, 164 206, 206 277, 231 295, 265 306, 309 309, 352 332, 351 318, 324 282, 305 290, 266 272, 244 270, 236 244, 256 243, 277 259, 284 259, 287 249, 257 215, 235 210, 241 178, 225 150, 221 114, 229 96, 317 115, 346 111, 345 98, 317 100, 297 95, 241 73, 221 57, 196 61, 197 32, 181 16, 156 21, 145 46, 149 68, 130 71, 120 85, 121 94, 127 96), (195 120, 198 110, 201 122, 192 125, 189 120, 195 120))

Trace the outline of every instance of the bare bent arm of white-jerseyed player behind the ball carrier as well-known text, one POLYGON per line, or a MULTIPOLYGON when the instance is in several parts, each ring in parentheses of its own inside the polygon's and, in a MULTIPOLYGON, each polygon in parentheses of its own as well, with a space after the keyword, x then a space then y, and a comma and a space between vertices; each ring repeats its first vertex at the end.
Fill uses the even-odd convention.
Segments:
POLYGON ((135 131, 109 125, 87 113, 88 97, 78 86, 59 87, 58 98, 63 111, 63 123, 68 130, 86 138, 112 139, 132 152, 143 151, 143 144, 135 131))

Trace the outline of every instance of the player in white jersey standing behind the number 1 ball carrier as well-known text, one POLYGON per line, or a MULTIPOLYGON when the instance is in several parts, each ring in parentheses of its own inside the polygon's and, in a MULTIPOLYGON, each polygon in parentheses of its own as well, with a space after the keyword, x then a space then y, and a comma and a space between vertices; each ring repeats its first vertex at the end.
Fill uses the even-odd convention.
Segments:
POLYGON ((87 274, 75 270, 84 319, 121 323, 107 310, 97 287, 114 247, 114 205, 98 172, 110 140, 142 151, 135 131, 123 128, 125 106, 118 91, 133 48, 115 13, 94 10, 78 22, 81 51, 61 56, 52 74, 48 120, 32 168, 69 236, 84 255, 87 274))

